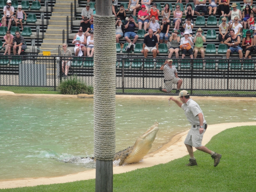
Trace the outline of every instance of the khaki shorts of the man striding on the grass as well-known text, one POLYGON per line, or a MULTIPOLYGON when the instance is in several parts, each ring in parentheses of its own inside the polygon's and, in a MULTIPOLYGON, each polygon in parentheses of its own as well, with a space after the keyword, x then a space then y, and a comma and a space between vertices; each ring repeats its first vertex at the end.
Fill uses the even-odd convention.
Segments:
POLYGON ((202 145, 202 140, 203 140, 203 136, 204 136, 204 132, 200 135, 199 133, 199 126, 198 127, 193 127, 193 125, 191 126, 191 129, 188 132, 188 135, 184 141, 185 144, 193 146, 193 147, 201 147, 202 145))

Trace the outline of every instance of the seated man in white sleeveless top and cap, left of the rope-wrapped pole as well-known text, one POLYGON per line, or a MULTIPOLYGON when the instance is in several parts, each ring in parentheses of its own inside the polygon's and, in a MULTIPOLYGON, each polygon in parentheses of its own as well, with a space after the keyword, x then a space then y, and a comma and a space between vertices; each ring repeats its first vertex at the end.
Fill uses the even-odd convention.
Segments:
POLYGON ((82 29, 78 29, 78 34, 76 34, 74 36, 72 44, 77 45, 74 48, 75 56, 81 57, 83 55, 83 52, 84 52, 84 56, 86 55, 86 50, 87 50, 86 46, 85 46, 85 44, 86 44, 86 36, 83 35, 83 30, 82 29))

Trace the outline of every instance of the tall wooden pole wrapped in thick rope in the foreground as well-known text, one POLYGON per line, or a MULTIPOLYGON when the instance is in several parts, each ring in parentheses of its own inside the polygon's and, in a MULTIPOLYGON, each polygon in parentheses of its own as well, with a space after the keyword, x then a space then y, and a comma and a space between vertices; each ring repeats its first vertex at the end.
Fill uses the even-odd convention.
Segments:
POLYGON ((96 192, 113 191, 116 140, 116 27, 112 1, 96 0, 94 27, 94 157, 96 192))

